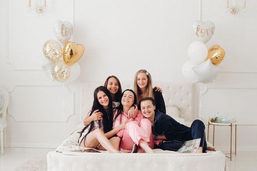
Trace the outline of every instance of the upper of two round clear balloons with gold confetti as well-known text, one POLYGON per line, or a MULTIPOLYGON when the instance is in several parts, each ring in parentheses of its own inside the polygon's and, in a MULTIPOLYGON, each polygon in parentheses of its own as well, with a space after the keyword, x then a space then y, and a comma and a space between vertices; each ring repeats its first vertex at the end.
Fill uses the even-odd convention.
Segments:
POLYGON ((43 54, 51 62, 57 62, 62 56, 62 47, 55 40, 48 40, 43 45, 43 54))

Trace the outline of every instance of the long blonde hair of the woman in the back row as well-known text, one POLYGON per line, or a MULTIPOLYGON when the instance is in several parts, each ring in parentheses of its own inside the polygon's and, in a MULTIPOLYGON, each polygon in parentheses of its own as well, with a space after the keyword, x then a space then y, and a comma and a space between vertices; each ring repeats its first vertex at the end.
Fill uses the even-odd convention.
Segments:
POLYGON ((145 69, 140 69, 135 74, 135 79, 134 79, 134 91, 135 91, 135 93, 137 95, 137 104, 139 104, 139 101, 141 100, 140 95, 142 94, 142 91, 140 90, 140 87, 138 86, 138 83, 137 83, 139 73, 145 73, 145 75, 147 77, 147 85, 146 85, 147 97, 152 97, 154 99, 151 74, 147 70, 145 70, 145 69))

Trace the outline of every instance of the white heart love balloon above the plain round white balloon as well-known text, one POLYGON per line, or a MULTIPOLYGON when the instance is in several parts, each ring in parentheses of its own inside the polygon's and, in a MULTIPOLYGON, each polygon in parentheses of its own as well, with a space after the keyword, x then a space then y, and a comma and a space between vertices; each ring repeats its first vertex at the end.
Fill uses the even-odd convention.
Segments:
POLYGON ((215 31, 215 24, 212 21, 201 22, 196 20, 192 23, 194 34, 196 35, 197 41, 207 43, 215 31))

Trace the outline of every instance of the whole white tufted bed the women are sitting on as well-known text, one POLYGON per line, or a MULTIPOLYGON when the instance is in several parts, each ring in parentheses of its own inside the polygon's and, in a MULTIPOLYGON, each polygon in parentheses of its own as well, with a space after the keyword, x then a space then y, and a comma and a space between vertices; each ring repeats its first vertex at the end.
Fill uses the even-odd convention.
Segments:
MULTIPOLYGON (((93 91, 102 82, 81 85, 80 120, 93 104, 93 91)), ((121 81, 122 90, 133 89, 133 81, 121 81)), ((198 118, 198 91, 192 83, 161 83, 166 113, 178 122, 190 126, 198 118), (171 112, 171 113, 170 113, 171 112)), ((155 149, 156 153, 91 153, 77 152, 80 122, 66 140, 47 153, 47 171, 227 171, 226 156, 221 151, 207 153, 178 153, 155 149)))

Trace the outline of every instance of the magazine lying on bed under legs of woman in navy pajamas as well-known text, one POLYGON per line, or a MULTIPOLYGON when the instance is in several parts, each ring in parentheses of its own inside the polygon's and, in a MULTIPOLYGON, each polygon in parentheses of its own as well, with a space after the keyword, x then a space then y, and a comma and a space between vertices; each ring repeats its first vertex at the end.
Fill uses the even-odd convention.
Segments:
POLYGON ((200 146, 201 138, 188 140, 183 143, 177 152, 181 153, 195 153, 198 151, 200 146))

